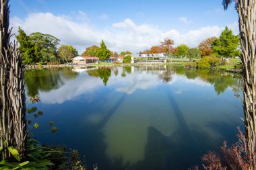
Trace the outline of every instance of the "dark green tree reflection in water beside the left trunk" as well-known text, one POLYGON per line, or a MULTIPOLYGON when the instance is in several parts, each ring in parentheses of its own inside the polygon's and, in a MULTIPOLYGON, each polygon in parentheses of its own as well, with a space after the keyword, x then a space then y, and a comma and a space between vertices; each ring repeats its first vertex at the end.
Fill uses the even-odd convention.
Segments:
POLYGON ((30 70, 25 73, 26 89, 29 96, 38 95, 38 91, 59 89, 67 79, 75 79, 78 73, 70 68, 54 68, 44 70, 30 70))

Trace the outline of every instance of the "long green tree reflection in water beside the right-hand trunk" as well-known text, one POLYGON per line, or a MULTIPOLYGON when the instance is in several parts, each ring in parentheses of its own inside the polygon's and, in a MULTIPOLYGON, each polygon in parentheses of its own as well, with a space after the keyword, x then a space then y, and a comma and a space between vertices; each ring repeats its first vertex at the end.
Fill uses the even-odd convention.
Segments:
POLYGON ((185 75, 187 79, 201 78, 203 81, 214 85, 218 95, 223 93, 228 87, 232 88, 238 96, 243 90, 243 81, 239 75, 227 73, 225 71, 213 71, 209 69, 174 69, 178 75, 185 75))

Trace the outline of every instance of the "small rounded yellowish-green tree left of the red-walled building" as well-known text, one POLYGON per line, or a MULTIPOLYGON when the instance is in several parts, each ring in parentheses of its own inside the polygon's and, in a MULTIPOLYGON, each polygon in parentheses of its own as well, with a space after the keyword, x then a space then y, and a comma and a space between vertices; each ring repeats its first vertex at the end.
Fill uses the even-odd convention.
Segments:
POLYGON ((78 56, 77 50, 71 45, 61 45, 58 50, 59 56, 66 60, 71 60, 71 58, 78 56))

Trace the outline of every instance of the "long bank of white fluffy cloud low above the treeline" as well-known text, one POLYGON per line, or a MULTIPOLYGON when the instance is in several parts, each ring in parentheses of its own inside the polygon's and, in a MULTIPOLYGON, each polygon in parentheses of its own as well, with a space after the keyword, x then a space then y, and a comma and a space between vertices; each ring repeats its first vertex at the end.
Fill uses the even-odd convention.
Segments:
MULTIPOLYGON (((189 22, 187 18, 183 18, 183 20, 189 22)), ((69 16, 53 15, 53 13, 30 13, 24 19, 11 17, 10 25, 13 26, 15 33, 17 33, 18 26, 21 26, 27 34, 32 32, 52 34, 61 40, 61 44, 71 44, 79 52, 83 52, 88 46, 99 45, 102 39, 110 50, 117 52, 121 50, 139 52, 159 44, 167 37, 174 40, 176 46, 184 43, 195 47, 205 38, 219 36, 224 29, 220 26, 207 26, 181 34, 174 29, 164 32, 158 26, 138 25, 129 18, 104 29, 98 29, 82 11, 69 16)), ((237 32, 237 23, 230 24, 230 26, 234 32, 237 32)))

